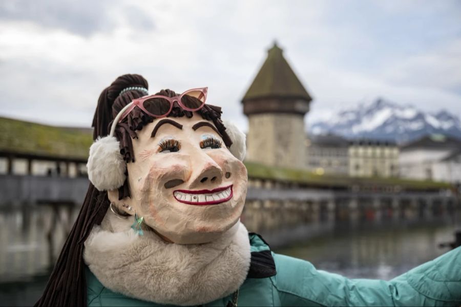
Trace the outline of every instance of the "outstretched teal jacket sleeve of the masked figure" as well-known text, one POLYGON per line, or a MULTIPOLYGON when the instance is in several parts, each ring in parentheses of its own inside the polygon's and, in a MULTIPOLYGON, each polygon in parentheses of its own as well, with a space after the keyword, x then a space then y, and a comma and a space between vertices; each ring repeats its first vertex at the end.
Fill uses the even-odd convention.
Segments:
POLYGON ((390 281, 348 279, 310 262, 274 254, 271 277, 283 306, 461 305, 461 247, 390 281))

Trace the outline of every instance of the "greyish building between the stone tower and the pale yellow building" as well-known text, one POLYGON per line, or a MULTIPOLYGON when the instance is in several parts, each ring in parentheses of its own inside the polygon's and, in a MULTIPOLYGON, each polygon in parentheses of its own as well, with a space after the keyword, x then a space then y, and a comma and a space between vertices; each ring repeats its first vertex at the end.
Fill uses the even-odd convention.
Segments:
POLYGON ((313 135, 306 141, 306 146, 306 163, 309 170, 319 175, 348 175, 348 140, 332 134, 313 135))

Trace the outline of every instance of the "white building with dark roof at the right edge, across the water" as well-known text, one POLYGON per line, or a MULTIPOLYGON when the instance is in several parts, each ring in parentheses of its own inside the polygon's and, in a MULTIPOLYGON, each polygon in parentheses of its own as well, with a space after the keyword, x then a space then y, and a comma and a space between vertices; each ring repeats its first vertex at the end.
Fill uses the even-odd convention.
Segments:
POLYGON ((461 182, 461 141, 428 135, 400 148, 403 178, 461 182))

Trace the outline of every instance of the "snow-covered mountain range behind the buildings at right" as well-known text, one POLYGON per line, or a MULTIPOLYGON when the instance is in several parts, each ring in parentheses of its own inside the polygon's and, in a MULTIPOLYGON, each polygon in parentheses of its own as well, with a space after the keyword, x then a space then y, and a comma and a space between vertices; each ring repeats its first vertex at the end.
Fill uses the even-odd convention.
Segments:
POLYGON ((425 113, 411 105, 376 99, 308 122, 310 134, 332 133, 348 139, 369 138, 406 142, 427 134, 445 134, 461 139, 461 122, 447 111, 425 113))

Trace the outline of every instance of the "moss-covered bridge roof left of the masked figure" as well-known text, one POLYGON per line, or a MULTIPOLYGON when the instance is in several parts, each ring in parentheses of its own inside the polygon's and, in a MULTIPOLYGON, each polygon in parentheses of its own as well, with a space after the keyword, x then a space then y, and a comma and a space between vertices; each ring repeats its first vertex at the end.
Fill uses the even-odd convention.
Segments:
POLYGON ((55 127, 0 117, 0 152, 67 160, 88 159, 92 129, 55 127))

